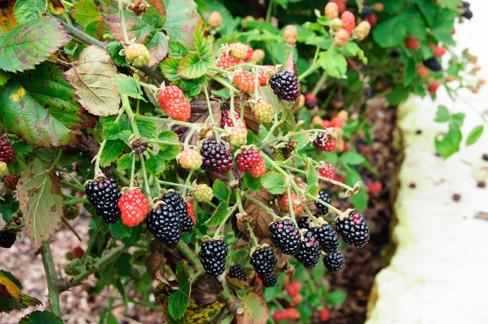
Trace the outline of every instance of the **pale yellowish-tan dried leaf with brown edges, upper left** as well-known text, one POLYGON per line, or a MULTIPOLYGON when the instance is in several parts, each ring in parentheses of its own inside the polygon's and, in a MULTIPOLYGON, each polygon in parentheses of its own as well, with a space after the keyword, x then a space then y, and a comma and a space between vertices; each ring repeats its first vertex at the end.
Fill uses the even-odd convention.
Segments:
POLYGON ((78 64, 66 71, 68 82, 75 88, 79 103, 96 116, 119 112, 121 97, 113 78, 118 75, 110 54, 90 45, 79 54, 78 64))

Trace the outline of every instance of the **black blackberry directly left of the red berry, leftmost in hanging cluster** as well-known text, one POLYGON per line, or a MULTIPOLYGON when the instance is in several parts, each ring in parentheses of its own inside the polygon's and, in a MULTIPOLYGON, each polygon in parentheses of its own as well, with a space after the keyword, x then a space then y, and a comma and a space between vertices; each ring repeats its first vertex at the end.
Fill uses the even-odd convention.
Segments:
POLYGON ((97 215, 102 217, 107 224, 113 224, 121 218, 121 210, 117 203, 122 193, 114 178, 92 181, 86 187, 85 193, 97 215))

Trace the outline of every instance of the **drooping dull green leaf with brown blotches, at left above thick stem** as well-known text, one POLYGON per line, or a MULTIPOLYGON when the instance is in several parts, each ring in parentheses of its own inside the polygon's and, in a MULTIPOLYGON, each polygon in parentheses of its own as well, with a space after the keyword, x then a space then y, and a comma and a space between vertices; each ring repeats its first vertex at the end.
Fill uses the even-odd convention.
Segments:
POLYGON ((34 159, 22 172, 17 188, 27 234, 32 244, 40 247, 54 235, 63 216, 61 183, 56 172, 34 159))

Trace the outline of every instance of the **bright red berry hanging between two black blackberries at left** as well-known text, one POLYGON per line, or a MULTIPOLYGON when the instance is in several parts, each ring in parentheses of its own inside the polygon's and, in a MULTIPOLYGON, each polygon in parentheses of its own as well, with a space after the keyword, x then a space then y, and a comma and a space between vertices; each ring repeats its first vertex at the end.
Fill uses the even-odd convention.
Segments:
POLYGON ((149 211, 148 200, 139 189, 132 189, 125 192, 117 203, 121 210, 123 224, 132 227, 137 226, 144 220, 149 211))

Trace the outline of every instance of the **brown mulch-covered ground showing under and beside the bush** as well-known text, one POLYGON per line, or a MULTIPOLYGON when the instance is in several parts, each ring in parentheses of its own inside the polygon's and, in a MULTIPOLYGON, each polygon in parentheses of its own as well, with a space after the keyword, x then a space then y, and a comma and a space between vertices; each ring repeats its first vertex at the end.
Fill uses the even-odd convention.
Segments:
MULTIPOLYGON (((363 154, 372 164, 374 169, 380 173, 379 180, 383 185, 381 192, 370 195, 369 203, 364 214, 367 224, 371 229, 371 240, 363 249, 347 247, 343 252, 346 257, 346 268, 337 274, 326 274, 332 290, 339 289, 346 291, 348 297, 342 307, 331 310, 331 317, 328 324, 363 324, 367 314, 367 301, 372 288, 374 276, 383 268, 387 261, 383 260, 383 251, 388 246, 390 220, 392 219, 392 201, 395 201, 395 178, 397 168, 402 162, 401 151, 393 147, 396 109, 394 107, 384 108, 383 102, 373 101, 368 105, 366 111, 367 121, 373 126, 373 144, 369 145, 364 136, 356 139, 358 152, 363 154)), ((363 176, 371 177, 371 173, 358 169, 363 176)), ((341 210, 351 206, 338 201, 337 207, 341 210)), ((61 224, 61 230, 56 232, 51 239, 52 254, 54 263, 59 265, 59 273, 67 264, 66 253, 72 252, 75 247, 86 249, 88 241, 89 215, 82 210, 77 219, 70 221, 71 226, 78 233, 80 242, 65 224, 61 224)), ((0 219, 0 226, 3 221, 0 219)), ((22 293, 38 298, 43 306, 29 307, 24 311, 13 311, 10 314, 1 314, 2 324, 18 323, 22 316, 34 310, 49 310, 47 300, 47 285, 43 262, 37 249, 33 247, 25 231, 22 239, 10 249, 0 249, 0 264, 3 270, 8 270, 22 281, 22 293)), ((96 284, 96 278, 92 275, 87 280, 88 285, 96 284)), ((88 286, 87 285, 87 286, 88 286)), ((98 323, 99 314, 103 307, 108 306, 109 296, 116 294, 115 288, 107 288, 97 296, 89 296, 86 292, 87 286, 77 286, 70 291, 61 293, 61 312, 64 323, 98 323)), ((137 296, 131 296, 137 299, 137 296)), ((165 323, 162 311, 155 309, 148 310, 147 307, 129 303, 127 311, 121 304, 116 307, 112 314, 120 323, 165 323)))

